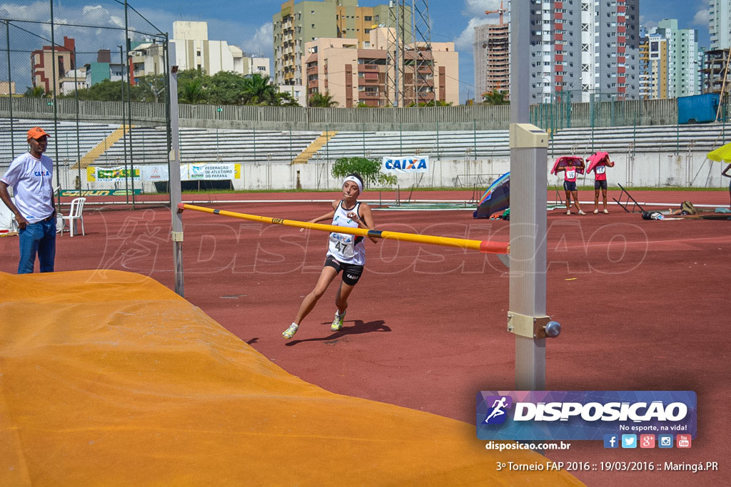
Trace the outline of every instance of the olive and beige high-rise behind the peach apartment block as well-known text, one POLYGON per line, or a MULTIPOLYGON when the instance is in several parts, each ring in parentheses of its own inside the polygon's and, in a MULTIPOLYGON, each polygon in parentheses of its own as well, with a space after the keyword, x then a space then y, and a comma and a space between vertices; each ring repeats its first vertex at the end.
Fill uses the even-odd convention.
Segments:
MULTIPOLYGON (((393 2, 392 2, 393 3, 393 2)), ((358 7, 357 0, 304 0, 281 4, 272 17, 274 47, 273 78, 277 85, 304 85, 305 43, 319 38, 351 39, 368 49, 371 29, 389 26, 395 6, 358 7), (391 9, 391 10, 390 10, 391 9)), ((411 9, 399 12, 406 19, 405 42, 412 42, 411 9)))

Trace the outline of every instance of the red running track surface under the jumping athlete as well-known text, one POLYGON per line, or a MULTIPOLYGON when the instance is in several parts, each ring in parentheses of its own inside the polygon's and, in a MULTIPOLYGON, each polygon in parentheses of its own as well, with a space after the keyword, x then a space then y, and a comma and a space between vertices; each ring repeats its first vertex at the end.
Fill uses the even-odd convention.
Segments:
MULTIPOLYGON (((427 194, 421 197, 432 196, 427 194)), ((696 202, 697 195, 719 206, 728 196, 663 191, 643 199, 696 202)), ((220 206, 308 220, 327 212, 328 205, 220 206)), ((507 239, 507 222, 474 221, 466 211, 374 215, 380 229, 507 239)), ((344 329, 329 329, 333 285, 287 342, 281 331, 317 280, 325 234, 197 212, 186 212, 183 220, 186 297, 304 380, 469 423, 477 391, 514 388, 515 339, 505 331, 508 278, 495 256, 368 242, 368 265, 344 329)), ((126 269, 173 287, 167 210, 88 212, 85 223, 86 237, 58 239, 57 270, 126 269)), ((548 225, 548 313, 563 325, 561 337, 547 344, 548 388, 692 390, 699 404, 691 450, 605 450, 601 442, 572 442, 570 450, 548 457, 718 461, 720 467, 700 474, 573 472, 589 485, 725 483, 731 467, 726 433, 731 221, 643 221, 613 207, 610 215, 550 212, 548 225)), ((1 271, 15 272, 17 245, 15 238, 0 239, 1 271)), ((505 455, 510 461, 510 453, 505 455)))

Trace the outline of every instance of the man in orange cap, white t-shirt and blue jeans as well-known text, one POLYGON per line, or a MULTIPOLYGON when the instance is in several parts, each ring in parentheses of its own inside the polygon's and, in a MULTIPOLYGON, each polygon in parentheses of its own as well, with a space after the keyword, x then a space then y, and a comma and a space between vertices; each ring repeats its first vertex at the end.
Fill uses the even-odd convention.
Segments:
POLYGON ((0 200, 15 215, 20 236, 18 274, 30 274, 36 262, 41 272, 53 272, 56 260, 56 204, 53 201, 53 161, 43 153, 48 134, 40 127, 28 131, 29 151, 15 158, 0 177, 0 200), (15 202, 7 187, 12 186, 15 202))

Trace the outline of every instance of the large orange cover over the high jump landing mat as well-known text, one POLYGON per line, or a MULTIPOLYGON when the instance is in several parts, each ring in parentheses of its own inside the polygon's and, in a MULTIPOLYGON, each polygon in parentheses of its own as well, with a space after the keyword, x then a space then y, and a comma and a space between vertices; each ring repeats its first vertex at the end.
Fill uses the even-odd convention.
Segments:
POLYGON ((496 472, 547 459, 471 424, 289 375, 148 277, 0 273, 0 294, 3 485, 580 485, 496 472))

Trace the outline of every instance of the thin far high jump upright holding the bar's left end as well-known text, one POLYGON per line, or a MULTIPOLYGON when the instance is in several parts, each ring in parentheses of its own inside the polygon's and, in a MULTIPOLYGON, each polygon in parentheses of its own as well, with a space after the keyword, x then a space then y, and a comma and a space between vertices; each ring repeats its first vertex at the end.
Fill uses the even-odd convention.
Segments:
MULTIPOLYGON (((166 39, 167 41, 167 39, 166 39)), ((175 44, 167 41, 167 69, 170 73, 170 154, 167 161, 167 180, 170 183, 170 213, 173 218, 173 266, 175 267, 175 292, 185 297, 183 283, 183 215, 178 212, 181 197, 181 151, 178 111, 178 66, 175 63, 175 44)))

